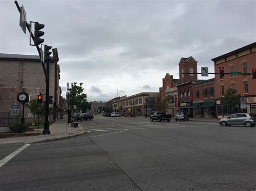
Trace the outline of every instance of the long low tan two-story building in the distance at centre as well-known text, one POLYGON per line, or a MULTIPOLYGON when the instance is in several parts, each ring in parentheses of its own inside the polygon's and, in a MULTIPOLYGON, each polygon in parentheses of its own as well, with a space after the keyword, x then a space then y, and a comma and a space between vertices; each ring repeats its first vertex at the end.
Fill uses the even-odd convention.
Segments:
POLYGON ((112 110, 126 115, 150 115, 154 106, 160 103, 159 93, 143 92, 129 97, 124 97, 112 103, 112 110))

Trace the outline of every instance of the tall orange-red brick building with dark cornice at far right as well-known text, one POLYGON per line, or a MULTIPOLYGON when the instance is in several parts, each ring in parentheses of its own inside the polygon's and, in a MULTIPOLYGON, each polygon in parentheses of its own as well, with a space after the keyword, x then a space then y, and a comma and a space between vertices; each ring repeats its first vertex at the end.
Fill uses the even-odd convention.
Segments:
MULTIPOLYGON (((215 73, 219 72, 219 67, 224 67, 224 73, 241 72, 251 73, 252 68, 256 68, 256 43, 235 49, 232 52, 213 58, 215 73)), ((217 118, 223 118, 232 114, 227 105, 221 103, 220 97, 225 95, 227 88, 237 90, 237 94, 246 100, 245 107, 238 107, 233 112, 248 112, 256 114, 256 79, 251 75, 229 75, 223 78, 215 75, 215 98, 217 104, 217 118)))

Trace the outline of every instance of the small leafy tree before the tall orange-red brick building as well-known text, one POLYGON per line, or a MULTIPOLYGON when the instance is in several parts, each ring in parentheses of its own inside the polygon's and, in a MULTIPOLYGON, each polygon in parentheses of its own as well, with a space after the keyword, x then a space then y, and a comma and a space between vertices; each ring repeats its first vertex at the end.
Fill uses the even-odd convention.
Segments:
POLYGON ((232 110, 233 113, 234 108, 237 107, 237 105, 240 103, 239 96, 240 94, 237 94, 237 90, 228 88, 224 97, 221 98, 221 101, 225 103, 227 107, 232 110))

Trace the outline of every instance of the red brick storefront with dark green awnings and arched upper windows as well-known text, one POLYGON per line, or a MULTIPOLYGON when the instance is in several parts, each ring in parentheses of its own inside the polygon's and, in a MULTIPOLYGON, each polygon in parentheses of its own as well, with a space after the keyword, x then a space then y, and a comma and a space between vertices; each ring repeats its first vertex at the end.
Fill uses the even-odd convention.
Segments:
POLYGON ((216 118, 214 78, 192 84, 193 117, 216 118))

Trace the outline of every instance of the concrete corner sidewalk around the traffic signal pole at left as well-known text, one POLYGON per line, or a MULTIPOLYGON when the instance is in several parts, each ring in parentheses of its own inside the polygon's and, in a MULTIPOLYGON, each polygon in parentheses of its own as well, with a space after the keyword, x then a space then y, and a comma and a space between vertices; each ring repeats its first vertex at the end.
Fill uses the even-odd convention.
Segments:
MULTIPOLYGON (((50 135, 39 135, 39 136, 24 136, 24 137, 8 137, 0 139, 0 144, 8 143, 36 143, 46 142, 52 140, 58 140, 68 137, 75 137, 85 133, 82 127, 78 125, 78 128, 72 128, 71 124, 67 124, 68 116, 64 116, 63 119, 50 125, 50 135)), ((37 132, 37 130, 36 130, 37 132)), ((43 132, 43 129, 39 129, 39 132, 43 132)))

